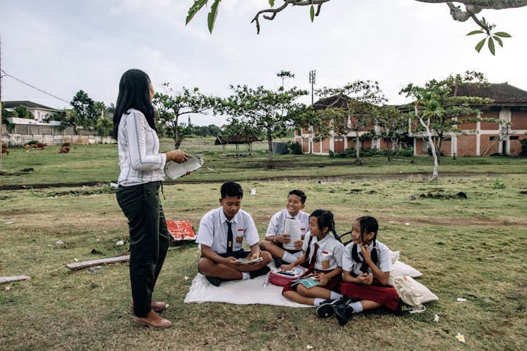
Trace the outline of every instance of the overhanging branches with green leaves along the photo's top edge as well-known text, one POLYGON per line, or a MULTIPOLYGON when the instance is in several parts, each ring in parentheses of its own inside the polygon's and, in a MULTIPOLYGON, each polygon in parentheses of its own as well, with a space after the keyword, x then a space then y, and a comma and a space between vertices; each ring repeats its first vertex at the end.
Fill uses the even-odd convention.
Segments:
MULTIPOLYGON (((218 7, 221 0, 213 0, 212 6, 209 11, 209 15, 207 16, 207 25, 209 27, 209 32, 212 34, 212 30, 214 29, 214 22, 216 22, 216 17, 218 15, 218 7)), ((274 20, 276 15, 280 13, 281 11, 284 11, 286 8, 288 8, 289 5, 291 5, 291 8, 293 6, 308 6, 309 8, 309 17, 311 18, 311 22, 315 20, 315 16, 318 16, 320 14, 320 10, 322 8, 322 5, 329 2, 330 0, 282 0, 283 4, 274 7, 275 6, 275 0, 268 0, 268 4, 271 8, 264 8, 261 11, 258 11, 254 18, 252 19, 251 23, 254 22, 256 25, 256 33, 260 33, 260 15, 263 16, 266 20, 274 20), (316 10, 315 10, 316 6, 316 10)), ((495 29, 495 25, 488 23, 485 18, 479 18, 478 14, 483 9, 493 9, 493 10, 501 10, 505 8, 519 8, 523 6, 527 6, 527 0, 458 0, 455 1, 459 4, 464 5, 464 10, 461 8, 461 6, 456 6, 453 1, 448 0, 415 0, 419 2, 424 2, 428 4, 438 4, 438 3, 445 3, 450 11, 450 15, 452 16, 453 20, 465 22, 469 19, 474 20, 476 22, 476 25, 478 25, 481 29, 475 30, 470 32, 467 35, 473 35, 473 34, 485 34, 486 37, 479 41, 479 43, 476 45, 476 50, 479 52, 481 50, 481 47, 483 47, 483 44, 485 44, 485 41, 488 40, 488 49, 490 53, 493 55, 495 54, 495 45, 494 42, 496 41, 497 44, 500 46, 503 46, 502 38, 511 37, 509 34, 505 32, 493 32, 495 29)), ((186 18, 186 24, 190 22, 190 20, 193 19, 194 15, 200 11, 203 6, 205 6, 209 0, 194 0, 194 4, 190 6, 188 9, 188 15, 186 18)))

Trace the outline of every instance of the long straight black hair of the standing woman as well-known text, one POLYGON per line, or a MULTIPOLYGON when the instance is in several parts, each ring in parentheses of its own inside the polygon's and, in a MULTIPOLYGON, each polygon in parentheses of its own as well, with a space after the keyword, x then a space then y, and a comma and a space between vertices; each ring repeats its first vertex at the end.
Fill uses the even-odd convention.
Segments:
POLYGON ((119 81, 119 95, 113 114, 113 135, 117 139, 119 122, 123 114, 134 108, 143 112, 150 128, 157 132, 155 127, 155 110, 150 101, 150 77, 141 69, 129 69, 123 73, 119 81))

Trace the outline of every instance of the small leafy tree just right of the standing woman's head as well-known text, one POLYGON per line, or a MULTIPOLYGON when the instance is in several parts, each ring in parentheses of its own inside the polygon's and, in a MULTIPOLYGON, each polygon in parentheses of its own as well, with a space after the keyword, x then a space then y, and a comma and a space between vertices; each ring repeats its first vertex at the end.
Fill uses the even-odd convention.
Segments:
POLYGON ((188 89, 183 86, 181 91, 174 91, 168 83, 163 86, 165 93, 155 93, 153 100, 157 107, 157 119, 170 129, 174 146, 178 149, 189 132, 179 125, 179 118, 185 114, 206 113, 214 106, 214 98, 203 95, 199 88, 188 89))

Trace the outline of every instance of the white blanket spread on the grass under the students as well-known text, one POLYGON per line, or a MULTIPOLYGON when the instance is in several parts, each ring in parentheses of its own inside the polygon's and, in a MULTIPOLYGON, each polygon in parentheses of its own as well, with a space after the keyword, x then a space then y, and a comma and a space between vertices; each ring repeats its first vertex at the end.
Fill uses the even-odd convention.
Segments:
MULTIPOLYGON (((274 263, 270 263, 271 270, 275 270, 274 263)), ((233 280, 221 282, 220 286, 210 284, 205 276, 197 273, 192 281, 190 290, 185 297, 185 303, 234 303, 236 305, 275 305, 286 307, 313 307, 294 303, 282 296, 282 286, 268 284, 263 286, 267 275, 254 279, 233 280)))

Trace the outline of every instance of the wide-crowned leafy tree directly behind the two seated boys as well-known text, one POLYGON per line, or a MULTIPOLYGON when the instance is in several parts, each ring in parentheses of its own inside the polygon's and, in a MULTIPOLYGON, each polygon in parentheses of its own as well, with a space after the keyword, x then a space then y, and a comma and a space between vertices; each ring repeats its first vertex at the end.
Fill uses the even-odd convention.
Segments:
POLYGON ((230 114, 230 124, 242 124, 266 135, 268 143, 268 167, 273 164, 273 139, 287 133, 287 127, 297 120, 304 104, 294 102, 307 91, 293 87, 271 91, 258 86, 230 86, 233 95, 222 101, 222 112, 230 114))

